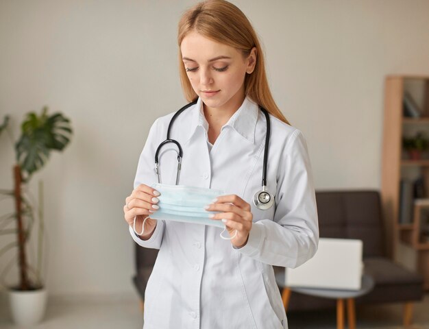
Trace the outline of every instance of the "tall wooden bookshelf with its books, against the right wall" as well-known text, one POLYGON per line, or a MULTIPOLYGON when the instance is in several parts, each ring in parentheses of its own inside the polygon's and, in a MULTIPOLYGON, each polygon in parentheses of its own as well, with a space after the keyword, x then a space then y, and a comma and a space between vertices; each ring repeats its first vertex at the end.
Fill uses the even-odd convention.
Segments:
POLYGON ((429 290, 429 242, 426 242, 429 158, 402 158, 403 138, 419 130, 429 132, 429 76, 387 76, 384 81, 381 197, 388 249, 391 258, 400 261, 400 244, 412 247, 416 270, 424 277, 424 287, 429 290), (419 185, 417 178, 420 178, 419 185), (417 195, 419 199, 415 199, 417 195))

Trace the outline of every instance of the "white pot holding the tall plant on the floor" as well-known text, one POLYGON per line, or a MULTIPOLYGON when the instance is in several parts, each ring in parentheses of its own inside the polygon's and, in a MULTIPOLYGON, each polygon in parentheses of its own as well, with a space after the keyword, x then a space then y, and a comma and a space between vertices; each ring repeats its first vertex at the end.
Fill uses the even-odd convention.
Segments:
POLYGON ((38 324, 45 317, 47 291, 9 290, 9 304, 14 323, 21 326, 38 324))

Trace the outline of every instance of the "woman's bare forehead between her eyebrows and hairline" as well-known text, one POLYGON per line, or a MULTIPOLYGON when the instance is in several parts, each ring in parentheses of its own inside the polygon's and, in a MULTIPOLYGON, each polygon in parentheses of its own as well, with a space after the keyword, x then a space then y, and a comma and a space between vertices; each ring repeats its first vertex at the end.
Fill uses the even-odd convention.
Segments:
POLYGON ((197 32, 187 34, 180 45, 182 56, 196 61, 206 62, 217 56, 235 58, 240 53, 231 46, 206 38, 197 32))

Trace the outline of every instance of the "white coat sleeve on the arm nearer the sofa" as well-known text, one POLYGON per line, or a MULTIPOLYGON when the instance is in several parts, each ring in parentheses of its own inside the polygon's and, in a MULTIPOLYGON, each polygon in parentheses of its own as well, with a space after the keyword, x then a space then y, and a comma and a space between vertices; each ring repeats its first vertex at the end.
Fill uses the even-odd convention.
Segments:
POLYGON ((247 244, 234 248, 262 263, 297 267, 317 251, 319 224, 306 139, 295 130, 286 143, 278 170, 273 221, 252 224, 247 244))

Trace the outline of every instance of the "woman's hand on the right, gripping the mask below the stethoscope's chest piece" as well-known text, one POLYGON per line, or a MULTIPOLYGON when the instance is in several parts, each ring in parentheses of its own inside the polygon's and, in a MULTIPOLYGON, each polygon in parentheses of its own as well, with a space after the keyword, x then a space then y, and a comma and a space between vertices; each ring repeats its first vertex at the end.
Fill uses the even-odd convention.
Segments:
POLYGON ((250 204, 235 194, 222 195, 216 200, 209 204, 206 210, 221 211, 219 214, 213 214, 212 219, 222 220, 230 236, 234 236, 235 230, 237 230, 231 243, 234 247, 243 247, 247 243, 249 232, 252 229, 253 215, 250 212, 250 204))

